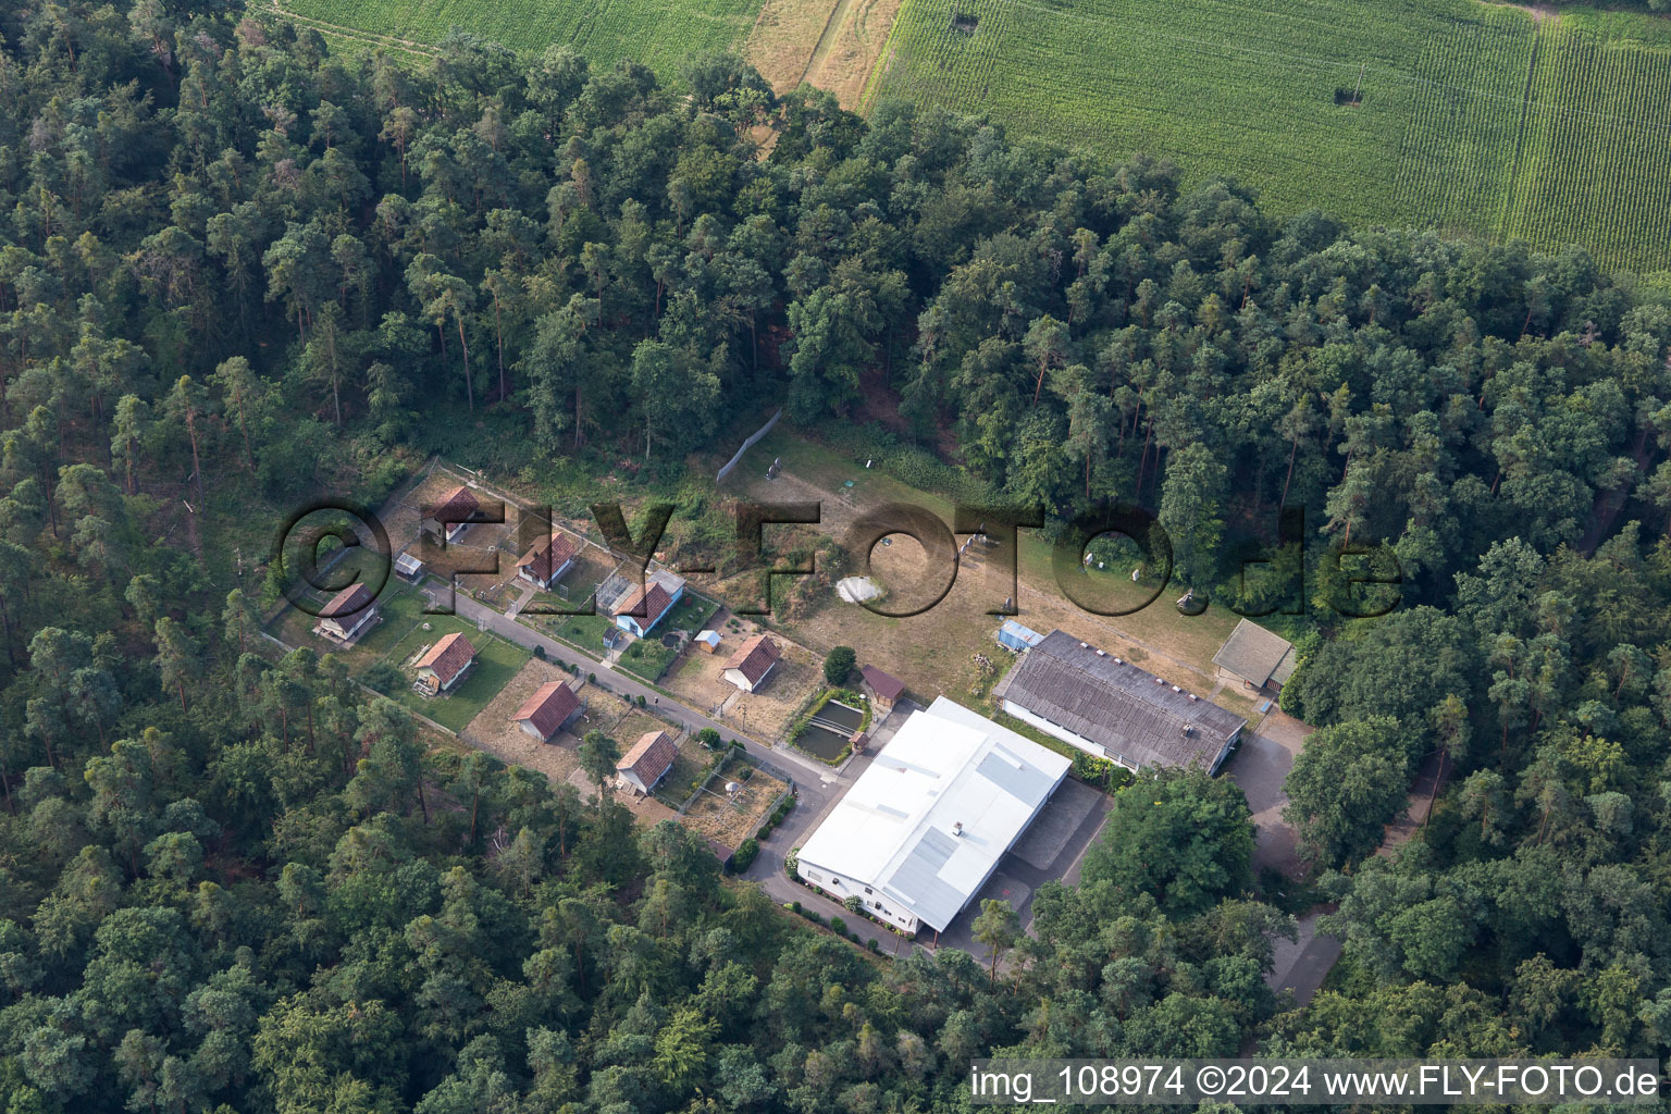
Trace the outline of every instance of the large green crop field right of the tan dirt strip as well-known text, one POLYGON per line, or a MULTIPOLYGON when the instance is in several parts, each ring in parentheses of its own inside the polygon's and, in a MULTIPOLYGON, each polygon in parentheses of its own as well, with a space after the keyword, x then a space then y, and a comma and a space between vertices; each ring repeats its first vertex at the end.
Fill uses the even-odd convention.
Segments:
POLYGON ((1671 22, 1477 0, 906 0, 904 95, 1272 209, 1671 267, 1671 22))

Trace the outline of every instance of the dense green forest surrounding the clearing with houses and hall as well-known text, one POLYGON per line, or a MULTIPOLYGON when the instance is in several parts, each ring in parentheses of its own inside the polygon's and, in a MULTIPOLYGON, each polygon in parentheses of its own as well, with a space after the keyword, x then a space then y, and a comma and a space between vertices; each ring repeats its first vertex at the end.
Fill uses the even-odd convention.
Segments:
POLYGON ((0 1111, 946 1111, 1001 1049, 1671 1041, 1663 292, 729 58, 22 3, 0 105, 0 1111), (1191 585, 1307 613, 1337 989, 1277 1012, 1228 783, 1121 793, 1004 969, 872 959, 266 655, 202 544, 411 449, 677 476, 777 401, 1058 528, 1143 501, 1191 585), (1222 544, 1283 504, 1315 598, 1222 544), (1405 606, 1342 621, 1325 541, 1390 546, 1405 606), (1432 822, 1364 862, 1434 752, 1432 822))

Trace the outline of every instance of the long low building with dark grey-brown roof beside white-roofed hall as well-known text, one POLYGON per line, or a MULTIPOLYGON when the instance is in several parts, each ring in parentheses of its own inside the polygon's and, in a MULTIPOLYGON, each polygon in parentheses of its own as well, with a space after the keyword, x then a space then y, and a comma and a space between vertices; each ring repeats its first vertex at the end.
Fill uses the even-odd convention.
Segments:
POLYGON ((1009 715, 1128 770, 1216 773, 1247 720, 1130 661, 1051 631, 996 690, 1009 715))

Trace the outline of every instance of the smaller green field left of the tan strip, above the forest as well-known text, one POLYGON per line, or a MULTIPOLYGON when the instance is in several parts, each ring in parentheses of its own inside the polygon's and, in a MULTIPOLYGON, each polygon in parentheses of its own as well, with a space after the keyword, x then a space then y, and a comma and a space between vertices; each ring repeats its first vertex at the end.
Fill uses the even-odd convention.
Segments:
POLYGON ((595 65, 630 58, 677 77, 692 53, 740 47, 760 0, 279 0, 272 7, 349 47, 434 43, 460 27, 518 50, 566 42, 595 65))

